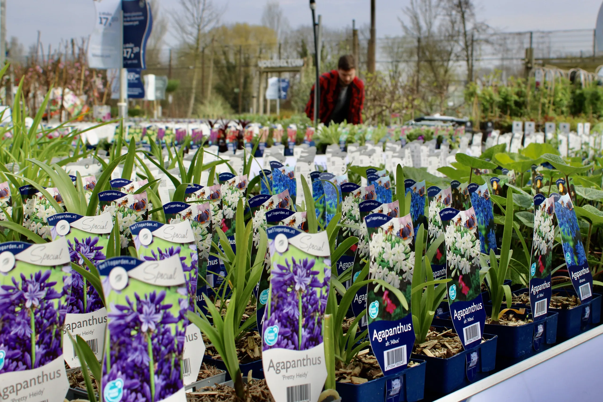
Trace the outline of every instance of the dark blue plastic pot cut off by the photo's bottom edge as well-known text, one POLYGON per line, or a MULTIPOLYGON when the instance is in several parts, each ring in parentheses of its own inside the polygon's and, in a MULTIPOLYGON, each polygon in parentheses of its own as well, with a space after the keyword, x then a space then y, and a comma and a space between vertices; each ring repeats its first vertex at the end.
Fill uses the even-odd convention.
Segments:
POLYGON ((414 402, 423 399, 425 392, 425 356, 419 358, 412 357, 413 362, 419 363, 416 366, 407 368, 397 374, 388 375, 387 377, 377 378, 364 384, 352 383, 336 383, 335 390, 339 393, 342 401, 346 402, 385 402, 388 398, 387 383, 402 388, 398 395, 400 402, 414 402), (399 379, 400 382, 396 383, 399 379))

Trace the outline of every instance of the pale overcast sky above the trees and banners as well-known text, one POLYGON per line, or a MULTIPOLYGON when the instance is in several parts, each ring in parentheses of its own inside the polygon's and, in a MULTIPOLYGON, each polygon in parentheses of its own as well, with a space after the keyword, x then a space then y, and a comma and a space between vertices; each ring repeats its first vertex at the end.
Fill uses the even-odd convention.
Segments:
MULTIPOLYGON (((178 7, 179 0, 158 0, 163 13, 178 7)), ((213 0, 226 8, 223 22, 259 24, 265 0, 213 0)), ((601 0, 475 0, 478 17, 500 31, 569 30, 595 28, 601 0)), ((377 0, 377 36, 402 33, 399 17, 408 0, 377 0)), ((306 0, 281 0, 292 27, 309 24, 306 0)), ((361 26, 370 21, 369 0, 317 0, 325 25, 336 28, 361 26)), ((36 43, 37 31, 45 49, 61 39, 88 36, 95 12, 92 0, 7 0, 8 37, 27 46, 36 43)), ((168 38, 174 42, 173 38, 168 38)))

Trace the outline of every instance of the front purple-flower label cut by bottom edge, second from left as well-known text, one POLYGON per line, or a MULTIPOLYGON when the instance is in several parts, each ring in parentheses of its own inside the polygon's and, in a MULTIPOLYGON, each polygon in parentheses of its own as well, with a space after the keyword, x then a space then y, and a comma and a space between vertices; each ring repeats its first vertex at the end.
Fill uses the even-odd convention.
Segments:
POLYGON ((99 394, 105 402, 185 402, 182 339, 191 303, 180 256, 113 257, 98 271, 104 277, 109 338, 99 394))

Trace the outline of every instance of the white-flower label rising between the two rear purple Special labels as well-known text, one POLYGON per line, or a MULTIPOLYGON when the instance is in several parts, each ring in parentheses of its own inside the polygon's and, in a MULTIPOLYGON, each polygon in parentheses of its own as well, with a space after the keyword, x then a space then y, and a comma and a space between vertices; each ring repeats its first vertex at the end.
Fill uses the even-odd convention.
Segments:
POLYGON ((107 190, 98 193, 98 204, 101 213, 109 212, 113 216, 113 224, 119 226, 119 244, 122 255, 134 244, 130 239, 130 226, 148 218, 147 192, 127 194, 118 190, 107 190))

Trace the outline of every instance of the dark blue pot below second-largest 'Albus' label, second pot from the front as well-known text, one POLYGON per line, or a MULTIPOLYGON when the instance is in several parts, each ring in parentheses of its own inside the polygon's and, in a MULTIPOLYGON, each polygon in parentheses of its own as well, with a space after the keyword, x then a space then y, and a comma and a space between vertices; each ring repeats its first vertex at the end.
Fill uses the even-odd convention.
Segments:
MULTIPOLYGON (((435 321, 435 320, 434 320, 435 321)), ((452 328, 452 321, 446 327, 435 326, 437 330, 446 331, 452 328)), ((430 357, 423 354, 411 354, 412 360, 425 359, 427 369, 425 374, 425 389, 433 394, 448 394, 469 383, 467 375, 471 375, 467 367, 467 357, 477 357, 476 368, 473 371, 488 372, 496 365, 497 336, 484 334, 485 341, 476 347, 461 351, 452 357, 430 357), (476 353, 476 354, 473 354, 476 353), (472 356, 473 355, 473 356, 472 356)), ((475 374, 475 373, 474 373, 475 374)))

